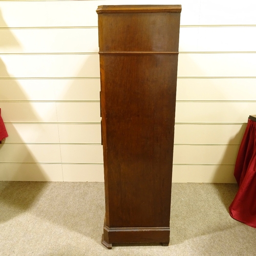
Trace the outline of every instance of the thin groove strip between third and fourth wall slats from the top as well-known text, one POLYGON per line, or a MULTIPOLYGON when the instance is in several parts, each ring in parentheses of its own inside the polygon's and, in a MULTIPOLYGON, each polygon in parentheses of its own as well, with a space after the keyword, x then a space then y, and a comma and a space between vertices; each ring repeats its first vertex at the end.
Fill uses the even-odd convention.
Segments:
MULTIPOLYGON (((255 79, 256 76, 178 76, 177 79, 255 79)), ((70 76, 70 77, 0 77, 1 80, 69 80, 69 79, 100 79, 99 76, 70 76)))

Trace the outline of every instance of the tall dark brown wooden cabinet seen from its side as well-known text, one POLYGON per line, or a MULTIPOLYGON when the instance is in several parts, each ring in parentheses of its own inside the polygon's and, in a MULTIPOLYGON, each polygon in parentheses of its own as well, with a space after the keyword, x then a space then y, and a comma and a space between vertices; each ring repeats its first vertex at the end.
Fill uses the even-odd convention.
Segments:
POLYGON ((107 248, 169 243, 180 12, 97 9, 107 248))

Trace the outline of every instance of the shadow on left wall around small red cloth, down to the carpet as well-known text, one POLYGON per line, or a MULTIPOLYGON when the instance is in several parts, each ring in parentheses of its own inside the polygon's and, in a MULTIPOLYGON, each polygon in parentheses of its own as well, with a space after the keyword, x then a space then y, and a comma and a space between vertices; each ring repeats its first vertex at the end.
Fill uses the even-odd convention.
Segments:
MULTIPOLYGON (((9 134, 6 142, 0 145, 0 163, 2 165, 0 170, 0 180, 39 180, 39 178, 41 178, 41 181, 47 180, 46 175, 36 164, 36 159, 34 158, 33 153, 30 151, 28 145, 26 145, 27 141, 23 141, 14 125, 15 122, 30 120, 39 121, 40 119, 29 102, 27 102, 23 108, 23 105, 20 104, 20 102, 12 101, 13 98, 11 92, 13 92, 15 100, 18 98, 19 100, 24 101, 27 100, 27 98, 15 79, 8 79, 10 75, 1 59, 0 76, 6 78, 0 79, 0 106, 2 109, 3 120, 6 123, 7 132, 9 134), (28 120, 28 117, 30 120, 28 120), (9 141, 11 141, 11 143, 9 143, 9 141)), ((27 127, 29 127, 29 125, 27 125, 27 127)), ((31 131, 28 131, 28 133, 31 134, 34 132, 35 131, 32 129, 31 131)))

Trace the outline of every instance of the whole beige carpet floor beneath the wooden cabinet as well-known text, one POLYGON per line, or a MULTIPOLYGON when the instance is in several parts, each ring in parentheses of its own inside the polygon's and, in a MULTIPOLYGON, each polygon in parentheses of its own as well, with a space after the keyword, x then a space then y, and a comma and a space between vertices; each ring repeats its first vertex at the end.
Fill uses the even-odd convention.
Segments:
POLYGON ((104 184, 0 182, 0 255, 256 255, 256 229, 233 220, 236 184, 174 183, 170 244, 101 245, 104 184))

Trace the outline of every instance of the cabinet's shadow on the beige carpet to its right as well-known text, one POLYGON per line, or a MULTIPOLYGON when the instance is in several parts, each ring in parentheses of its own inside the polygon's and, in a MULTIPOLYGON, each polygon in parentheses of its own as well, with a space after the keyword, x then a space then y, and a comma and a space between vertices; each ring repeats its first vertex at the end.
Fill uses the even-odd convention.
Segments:
MULTIPOLYGON (((174 183, 170 214, 170 245, 209 236, 236 224, 223 206, 219 191, 235 184, 174 183)), ((230 198, 230 197, 229 197, 230 198)))

